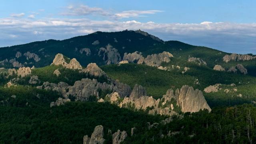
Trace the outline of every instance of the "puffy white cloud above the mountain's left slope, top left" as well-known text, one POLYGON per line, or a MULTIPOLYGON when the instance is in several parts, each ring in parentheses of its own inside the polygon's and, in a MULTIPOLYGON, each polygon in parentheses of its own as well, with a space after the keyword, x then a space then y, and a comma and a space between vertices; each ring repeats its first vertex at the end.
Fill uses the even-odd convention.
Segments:
POLYGON ((102 8, 97 7, 89 7, 86 5, 80 5, 80 6, 67 6, 65 9, 67 12, 62 12, 62 15, 68 15, 68 16, 85 16, 89 14, 98 14, 102 16, 109 16, 110 12, 107 10, 103 10, 102 8))

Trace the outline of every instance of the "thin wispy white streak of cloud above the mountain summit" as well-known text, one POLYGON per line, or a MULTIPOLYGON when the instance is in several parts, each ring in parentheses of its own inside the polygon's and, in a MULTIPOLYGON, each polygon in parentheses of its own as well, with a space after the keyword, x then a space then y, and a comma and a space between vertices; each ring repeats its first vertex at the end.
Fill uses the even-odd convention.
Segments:
POLYGON ((140 17, 145 14, 156 14, 157 12, 163 12, 161 10, 128 10, 115 14, 117 18, 130 18, 130 17, 140 17))

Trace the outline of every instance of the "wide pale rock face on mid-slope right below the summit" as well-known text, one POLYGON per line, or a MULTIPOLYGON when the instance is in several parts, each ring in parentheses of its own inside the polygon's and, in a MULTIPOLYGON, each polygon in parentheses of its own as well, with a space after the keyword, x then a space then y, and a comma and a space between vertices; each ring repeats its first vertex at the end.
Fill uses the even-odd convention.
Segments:
POLYGON ((162 52, 159 54, 148 55, 144 58, 141 53, 136 51, 129 54, 124 53, 123 60, 128 60, 128 62, 135 62, 137 64, 159 67, 162 62, 170 62, 170 58, 172 57, 173 55, 169 52, 162 52))

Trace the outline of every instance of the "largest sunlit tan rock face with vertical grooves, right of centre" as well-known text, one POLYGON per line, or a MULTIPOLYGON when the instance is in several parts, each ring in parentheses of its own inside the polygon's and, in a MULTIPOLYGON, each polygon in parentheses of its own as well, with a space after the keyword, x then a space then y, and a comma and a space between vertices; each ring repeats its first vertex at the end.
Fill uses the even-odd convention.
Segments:
POLYGON ((182 112, 198 112, 204 108, 211 111, 200 90, 194 90, 193 87, 189 86, 182 86, 180 92, 177 92, 177 94, 177 104, 181 107, 182 112))

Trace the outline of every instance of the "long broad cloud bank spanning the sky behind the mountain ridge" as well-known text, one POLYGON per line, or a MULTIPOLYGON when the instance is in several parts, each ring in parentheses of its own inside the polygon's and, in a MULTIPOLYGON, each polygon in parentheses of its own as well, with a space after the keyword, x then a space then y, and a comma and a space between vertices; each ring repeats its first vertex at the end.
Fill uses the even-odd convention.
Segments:
POLYGON ((36 40, 66 39, 96 31, 144 30, 164 40, 180 40, 227 52, 256 53, 256 23, 202 22, 198 24, 90 20, 87 18, 0 18, 1 46, 36 40), (36 36, 35 36, 36 35, 36 36), (15 38, 15 39, 10 39, 15 38), (18 40, 18 41, 12 41, 18 40), (8 43, 6 43, 8 42, 8 43))

